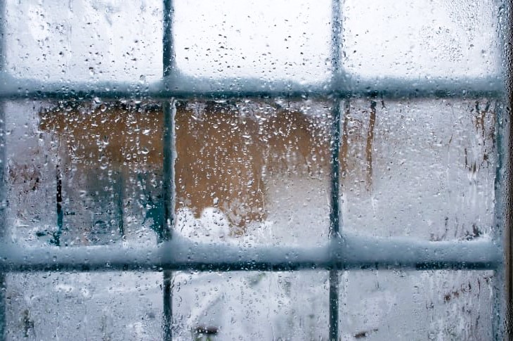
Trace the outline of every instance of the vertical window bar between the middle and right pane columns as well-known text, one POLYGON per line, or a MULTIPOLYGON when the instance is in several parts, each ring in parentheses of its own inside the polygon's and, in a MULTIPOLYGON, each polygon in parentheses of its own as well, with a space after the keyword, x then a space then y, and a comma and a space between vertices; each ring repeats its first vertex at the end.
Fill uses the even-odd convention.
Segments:
MULTIPOLYGON (((341 4, 340 0, 332 2, 332 86, 340 84, 342 77, 342 19, 340 18, 341 4)), ((335 92, 337 89, 335 89, 335 92)), ((331 155, 331 197, 330 197, 330 238, 340 238, 340 225, 342 219, 340 215, 340 104, 339 99, 335 99, 332 109, 332 155, 331 155)), ((339 271, 330 270, 330 340, 339 340, 339 271)))

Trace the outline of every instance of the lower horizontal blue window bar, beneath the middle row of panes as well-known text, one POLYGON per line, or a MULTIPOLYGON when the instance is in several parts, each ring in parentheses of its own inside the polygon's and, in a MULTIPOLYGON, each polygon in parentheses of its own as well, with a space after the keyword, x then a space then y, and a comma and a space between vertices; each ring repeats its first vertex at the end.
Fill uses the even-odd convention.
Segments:
POLYGON ((195 243, 173 236, 155 247, 0 245, 0 271, 295 271, 301 269, 480 269, 502 266, 491 239, 422 241, 344 236, 318 247, 195 243))

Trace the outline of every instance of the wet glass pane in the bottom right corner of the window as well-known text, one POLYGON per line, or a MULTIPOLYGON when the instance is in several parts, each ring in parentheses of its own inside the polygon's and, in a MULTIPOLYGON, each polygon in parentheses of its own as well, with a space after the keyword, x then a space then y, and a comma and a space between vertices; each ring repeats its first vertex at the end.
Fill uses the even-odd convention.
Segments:
POLYGON ((346 271, 342 340, 492 340, 493 271, 346 271))

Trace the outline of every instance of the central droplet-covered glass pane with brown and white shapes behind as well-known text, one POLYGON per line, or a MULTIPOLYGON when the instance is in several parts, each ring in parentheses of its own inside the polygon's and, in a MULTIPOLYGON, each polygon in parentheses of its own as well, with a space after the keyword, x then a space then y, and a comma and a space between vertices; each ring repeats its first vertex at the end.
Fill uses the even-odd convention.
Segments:
POLYGON ((324 243, 330 122, 330 107, 314 101, 178 105, 177 231, 324 243))

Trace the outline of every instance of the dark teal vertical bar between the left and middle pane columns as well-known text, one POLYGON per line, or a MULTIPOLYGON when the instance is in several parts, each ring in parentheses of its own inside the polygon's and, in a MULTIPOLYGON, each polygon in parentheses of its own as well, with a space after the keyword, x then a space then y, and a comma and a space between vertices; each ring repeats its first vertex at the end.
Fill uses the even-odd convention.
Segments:
MULTIPOLYGON (((162 32, 162 68, 163 77, 172 75, 175 67, 174 49, 173 49, 173 15, 174 8, 171 0, 164 0, 163 3, 163 32, 162 32)), ((164 200, 164 226, 162 226, 161 241, 170 240, 171 232, 174 226, 174 115, 176 113, 176 105, 174 100, 166 101, 162 105, 164 111, 164 127, 162 135, 162 146, 164 165, 163 178, 164 191, 162 198, 164 200)), ((173 338, 173 292, 172 292, 173 274, 169 270, 164 270, 164 278, 162 288, 163 300, 163 321, 162 321, 162 337, 166 341, 173 338)))

